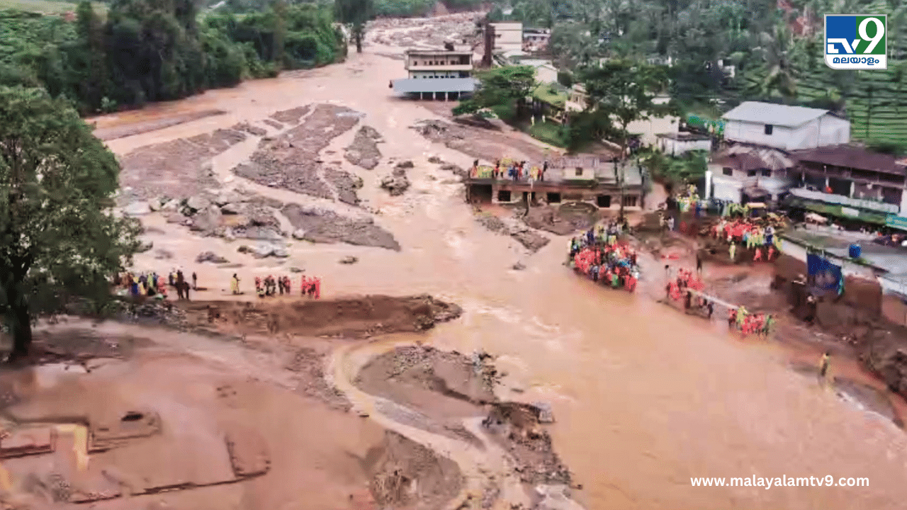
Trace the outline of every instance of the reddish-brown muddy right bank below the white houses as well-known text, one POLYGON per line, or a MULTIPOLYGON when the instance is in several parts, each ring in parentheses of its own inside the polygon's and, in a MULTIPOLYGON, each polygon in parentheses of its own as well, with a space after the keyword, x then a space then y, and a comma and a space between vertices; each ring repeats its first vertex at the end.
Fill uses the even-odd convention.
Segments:
MULTIPOLYGON (((742 305, 750 313, 775 317, 772 338, 793 349, 791 366, 795 371, 817 377, 822 352, 832 352, 837 375, 830 380, 837 393, 903 427, 907 418, 904 404, 907 361, 901 353, 907 350, 907 329, 857 309, 844 299, 820 298, 814 320, 807 322, 805 307, 795 306, 787 280, 805 272, 805 267, 800 267, 802 263, 792 262, 790 258, 775 263, 754 263, 750 260, 752 255, 746 257, 745 253, 738 255, 739 263, 730 264, 726 249, 719 250, 723 248, 720 243, 710 238, 693 239, 660 231, 652 217, 648 223, 640 226, 638 238, 661 264, 668 266, 669 274, 676 275, 679 268, 695 269, 698 251, 704 260, 703 282, 707 294, 742 305), (777 280, 779 276, 781 280, 777 280)), ((649 292, 664 299, 665 281, 664 276, 649 281, 649 292)), ((848 279, 848 284, 854 293, 860 291, 859 282, 848 279)), ((691 309, 687 313, 706 319, 703 309, 691 309)), ((716 307, 714 319, 726 318, 727 310, 716 307)))

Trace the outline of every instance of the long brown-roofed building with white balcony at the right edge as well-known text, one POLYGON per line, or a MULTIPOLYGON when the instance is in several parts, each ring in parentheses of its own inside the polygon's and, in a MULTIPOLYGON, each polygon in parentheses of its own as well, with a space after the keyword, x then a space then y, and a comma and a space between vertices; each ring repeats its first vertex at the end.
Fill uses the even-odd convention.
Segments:
POLYGON ((907 165, 856 145, 791 152, 797 164, 787 205, 844 219, 886 224, 907 211, 907 165))

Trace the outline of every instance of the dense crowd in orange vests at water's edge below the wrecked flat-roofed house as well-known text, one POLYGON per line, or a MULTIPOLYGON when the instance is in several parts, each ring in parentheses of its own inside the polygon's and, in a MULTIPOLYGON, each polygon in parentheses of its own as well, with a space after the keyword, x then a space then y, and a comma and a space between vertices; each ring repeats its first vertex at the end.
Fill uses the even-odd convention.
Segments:
POLYGON ((632 292, 639 281, 637 253, 625 241, 619 240, 621 227, 610 223, 597 225, 580 237, 571 240, 570 265, 590 280, 612 289, 632 292))

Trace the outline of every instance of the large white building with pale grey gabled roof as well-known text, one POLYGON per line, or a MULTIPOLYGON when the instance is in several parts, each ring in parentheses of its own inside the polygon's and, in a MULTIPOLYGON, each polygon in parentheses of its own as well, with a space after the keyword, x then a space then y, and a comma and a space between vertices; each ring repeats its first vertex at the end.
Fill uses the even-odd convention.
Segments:
POLYGON ((747 101, 721 117, 725 139, 782 151, 850 142, 850 121, 828 110, 747 101))

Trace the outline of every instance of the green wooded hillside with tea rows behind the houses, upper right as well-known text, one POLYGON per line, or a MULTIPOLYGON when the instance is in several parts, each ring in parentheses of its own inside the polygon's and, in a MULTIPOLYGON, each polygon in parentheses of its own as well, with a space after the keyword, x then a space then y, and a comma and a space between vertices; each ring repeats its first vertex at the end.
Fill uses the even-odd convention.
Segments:
POLYGON ((828 107, 853 137, 907 143, 907 5, 902 0, 512 0, 493 19, 551 28, 563 68, 605 57, 670 64, 671 95, 717 115, 745 100, 828 107), (825 14, 888 15, 886 71, 835 71, 825 14))

